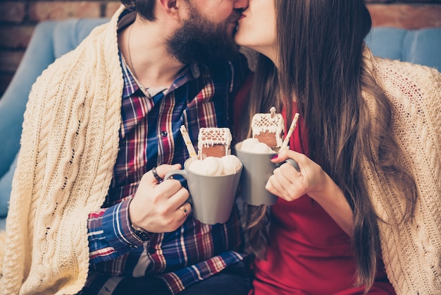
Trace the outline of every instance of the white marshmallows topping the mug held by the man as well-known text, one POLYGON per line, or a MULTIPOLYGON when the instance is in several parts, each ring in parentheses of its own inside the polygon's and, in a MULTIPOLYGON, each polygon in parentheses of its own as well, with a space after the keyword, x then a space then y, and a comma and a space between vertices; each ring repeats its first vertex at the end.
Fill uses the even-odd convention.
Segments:
POLYGON ((217 176, 235 174, 242 167, 242 162, 235 155, 219 157, 206 157, 198 159, 190 164, 190 169, 194 173, 217 176))

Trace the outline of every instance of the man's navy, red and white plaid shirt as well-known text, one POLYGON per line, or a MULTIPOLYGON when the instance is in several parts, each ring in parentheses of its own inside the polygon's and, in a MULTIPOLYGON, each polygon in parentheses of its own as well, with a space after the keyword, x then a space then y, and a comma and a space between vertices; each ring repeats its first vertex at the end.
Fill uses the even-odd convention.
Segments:
POLYGON ((228 102, 248 69, 243 56, 210 69, 185 66, 170 88, 149 93, 139 88, 125 62, 121 66, 120 150, 106 203, 89 214, 87 286, 111 289, 121 277, 157 276, 174 294, 243 259, 236 252, 241 245, 237 208, 225 224, 201 224, 190 215, 176 231, 154 234, 143 243, 131 230, 128 205, 144 173, 189 157, 182 124, 195 149, 199 128, 228 127, 228 102))

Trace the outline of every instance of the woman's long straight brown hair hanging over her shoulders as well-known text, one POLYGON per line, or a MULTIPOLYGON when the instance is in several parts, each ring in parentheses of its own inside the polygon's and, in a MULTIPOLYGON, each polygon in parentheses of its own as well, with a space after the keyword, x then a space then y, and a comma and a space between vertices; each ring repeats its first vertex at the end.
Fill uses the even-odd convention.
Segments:
MULTIPOLYGON (((249 114, 271 106, 291 105, 307 129, 309 157, 337 183, 352 208, 352 241, 357 284, 371 288, 380 253, 378 222, 368 197, 362 161, 367 159, 380 179, 379 186, 403 195, 408 201, 403 219, 414 212, 416 185, 394 160, 399 147, 392 136, 392 107, 364 64, 364 38, 371 16, 363 0, 275 0, 278 68, 260 55, 248 102, 249 114), (375 97, 376 118, 368 115, 361 92, 375 97), (282 95, 280 95, 282 93, 282 95), (375 124, 373 124, 375 120, 375 124)), ((249 136, 244 129, 240 138, 249 136)), ((250 252, 265 257, 268 242, 268 208, 249 206, 245 220, 250 252)))

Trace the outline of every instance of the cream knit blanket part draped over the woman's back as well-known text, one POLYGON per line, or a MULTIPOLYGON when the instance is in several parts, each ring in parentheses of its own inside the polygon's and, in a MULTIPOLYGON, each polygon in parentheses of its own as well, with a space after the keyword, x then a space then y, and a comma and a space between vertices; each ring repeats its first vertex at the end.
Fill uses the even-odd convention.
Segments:
MULTIPOLYGON (((397 161, 416 179, 414 219, 399 223, 405 201, 378 186, 375 171, 364 163, 371 202, 379 223, 387 277, 397 294, 441 294, 441 75, 434 68, 373 58, 365 63, 393 104, 392 126, 404 153, 397 161), (395 224, 395 225, 392 225, 395 224)), ((366 93, 365 93, 366 95, 366 93)), ((371 118, 375 109, 366 95, 371 118)))

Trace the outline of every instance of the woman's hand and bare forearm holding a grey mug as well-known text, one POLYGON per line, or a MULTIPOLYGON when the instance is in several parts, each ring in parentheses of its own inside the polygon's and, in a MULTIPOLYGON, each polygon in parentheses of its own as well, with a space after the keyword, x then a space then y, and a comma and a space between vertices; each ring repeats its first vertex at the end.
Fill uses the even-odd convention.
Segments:
POLYGON ((265 188, 287 201, 309 195, 349 236, 352 236, 352 210, 333 179, 316 162, 299 152, 282 150, 271 161, 281 163, 288 158, 297 162, 299 171, 289 163, 282 164, 274 170, 265 188))

